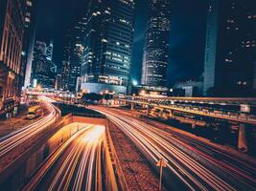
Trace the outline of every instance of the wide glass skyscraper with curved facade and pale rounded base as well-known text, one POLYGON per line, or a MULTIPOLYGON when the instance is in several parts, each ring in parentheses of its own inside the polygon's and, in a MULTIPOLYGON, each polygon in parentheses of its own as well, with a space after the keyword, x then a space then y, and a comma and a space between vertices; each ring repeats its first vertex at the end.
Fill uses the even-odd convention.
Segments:
POLYGON ((133 0, 92 0, 82 46, 81 89, 127 94, 134 27, 133 0))

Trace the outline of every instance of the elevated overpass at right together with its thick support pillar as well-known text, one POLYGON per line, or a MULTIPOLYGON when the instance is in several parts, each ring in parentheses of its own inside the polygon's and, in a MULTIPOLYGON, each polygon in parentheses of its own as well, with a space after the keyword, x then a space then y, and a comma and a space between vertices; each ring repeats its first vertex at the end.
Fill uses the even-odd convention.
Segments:
MULTIPOLYGON (((151 97, 151 96, 115 96, 119 105, 136 105, 146 108, 147 115, 151 110, 158 109, 158 117, 168 113, 168 118, 175 118, 177 113, 195 117, 226 120, 239 126, 238 148, 247 152, 247 128, 256 127, 256 98, 244 97, 151 97)), ((187 119, 184 119, 188 122, 187 119)), ((207 120, 206 120, 207 121, 207 120)), ((201 121, 191 120, 192 127, 201 121)), ((207 122, 205 122, 207 123, 207 122)))

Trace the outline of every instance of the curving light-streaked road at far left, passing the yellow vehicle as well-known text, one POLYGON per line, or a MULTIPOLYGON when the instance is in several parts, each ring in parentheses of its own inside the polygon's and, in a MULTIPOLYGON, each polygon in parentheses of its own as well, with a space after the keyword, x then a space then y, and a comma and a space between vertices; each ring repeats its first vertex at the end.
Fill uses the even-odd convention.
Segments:
POLYGON ((17 156, 20 156, 20 150, 15 151, 17 147, 28 148, 28 144, 32 138, 35 138, 35 136, 39 135, 47 127, 55 123, 58 120, 58 117, 60 117, 60 111, 51 103, 51 99, 45 96, 41 96, 40 98, 49 111, 49 114, 46 117, 42 117, 39 120, 36 120, 34 123, 28 126, 12 132, 8 136, 0 138, 0 172, 8 165, 8 163, 12 162, 12 159, 4 159, 6 157, 10 158, 10 152, 13 154, 13 159, 15 159, 17 156))

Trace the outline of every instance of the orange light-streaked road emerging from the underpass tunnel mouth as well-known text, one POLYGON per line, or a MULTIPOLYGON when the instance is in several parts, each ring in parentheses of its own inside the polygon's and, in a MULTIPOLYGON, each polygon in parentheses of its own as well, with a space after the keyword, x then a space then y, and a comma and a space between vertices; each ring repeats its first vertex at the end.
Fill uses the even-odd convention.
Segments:
POLYGON ((105 127, 82 125, 81 131, 58 148, 23 190, 103 189, 105 127))

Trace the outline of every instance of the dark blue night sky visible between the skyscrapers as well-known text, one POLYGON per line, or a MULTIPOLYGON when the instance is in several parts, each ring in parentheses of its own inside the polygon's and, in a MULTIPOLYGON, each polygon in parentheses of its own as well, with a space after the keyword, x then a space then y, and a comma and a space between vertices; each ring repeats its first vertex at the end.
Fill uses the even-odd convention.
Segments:
MULTIPOLYGON (((137 0, 131 78, 140 81, 147 0, 137 0)), ((38 0, 36 39, 55 42, 54 61, 61 66, 66 28, 86 12, 88 0, 38 0)), ((175 0, 171 15, 168 81, 202 74, 207 1, 175 0)))

